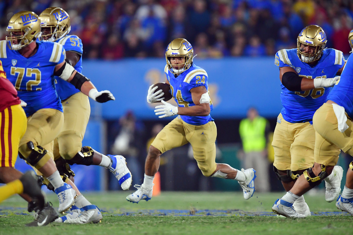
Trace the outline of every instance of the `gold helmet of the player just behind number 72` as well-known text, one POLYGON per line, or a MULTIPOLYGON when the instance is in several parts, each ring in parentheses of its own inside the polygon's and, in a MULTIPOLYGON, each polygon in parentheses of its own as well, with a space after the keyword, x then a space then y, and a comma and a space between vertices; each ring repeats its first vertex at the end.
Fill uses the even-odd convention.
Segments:
POLYGON ((70 30, 70 16, 60 7, 48 7, 40 15, 42 40, 55 42, 70 30))

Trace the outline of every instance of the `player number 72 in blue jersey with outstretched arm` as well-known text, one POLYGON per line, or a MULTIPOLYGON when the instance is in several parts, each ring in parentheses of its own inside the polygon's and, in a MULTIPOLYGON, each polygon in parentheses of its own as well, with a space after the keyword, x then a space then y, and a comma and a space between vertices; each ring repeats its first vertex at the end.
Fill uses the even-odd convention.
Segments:
POLYGON ((63 125, 60 98, 55 90, 54 75, 74 84, 98 102, 114 100, 109 91, 98 92, 84 75, 65 61, 65 49, 55 42, 36 41, 41 35, 40 20, 31 11, 14 14, 7 26, 8 36, 0 41, 0 58, 7 79, 27 106, 27 130, 19 143, 20 157, 41 172, 53 185, 59 198, 59 212, 64 212, 77 196, 72 186, 64 183, 56 169, 51 142, 63 125), (7 45, 6 45, 7 44, 7 45))

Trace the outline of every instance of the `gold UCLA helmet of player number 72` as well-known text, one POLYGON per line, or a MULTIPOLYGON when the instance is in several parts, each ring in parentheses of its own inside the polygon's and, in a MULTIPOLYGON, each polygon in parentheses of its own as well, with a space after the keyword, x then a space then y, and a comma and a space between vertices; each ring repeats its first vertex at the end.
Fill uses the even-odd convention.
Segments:
POLYGON ((36 13, 20 11, 14 14, 8 22, 5 40, 11 50, 19 50, 33 41, 41 34, 41 21, 36 13))

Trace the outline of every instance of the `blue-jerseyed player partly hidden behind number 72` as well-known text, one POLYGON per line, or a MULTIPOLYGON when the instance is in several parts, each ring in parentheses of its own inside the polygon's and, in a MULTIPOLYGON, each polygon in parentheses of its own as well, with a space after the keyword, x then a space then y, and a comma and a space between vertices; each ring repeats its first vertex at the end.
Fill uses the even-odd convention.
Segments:
MULTIPOLYGON (((66 62, 81 72, 83 45, 79 37, 69 34, 71 26, 67 12, 59 7, 49 7, 39 15, 39 19, 41 39, 62 45, 66 51, 66 62)), ((115 175, 123 190, 128 190, 132 178, 123 156, 106 156, 89 146, 82 147, 82 139, 90 116, 88 97, 59 77, 56 77, 55 81, 56 91, 64 110, 64 126, 54 141, 54 159, 59 171, 70 177, 73 172, 67 163, 103 166, 115 175), (65 161, 59 159, 60 156, 65 161)))

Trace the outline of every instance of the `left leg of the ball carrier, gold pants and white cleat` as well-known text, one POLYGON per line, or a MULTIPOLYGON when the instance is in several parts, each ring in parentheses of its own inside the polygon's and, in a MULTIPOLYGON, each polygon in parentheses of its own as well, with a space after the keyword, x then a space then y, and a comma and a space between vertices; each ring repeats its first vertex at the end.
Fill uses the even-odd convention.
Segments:
POLYGON ((145 161, 143 184, 134 185, 137 191, 128 195, 126 200, 132 203, 138 203, 141 199, 150 200, 152 197, 153 179, 160 165, 161 154, 186 143, 188 142, 185 138, 183 122, 178 116, 164 126, 151 143, 145 161))

